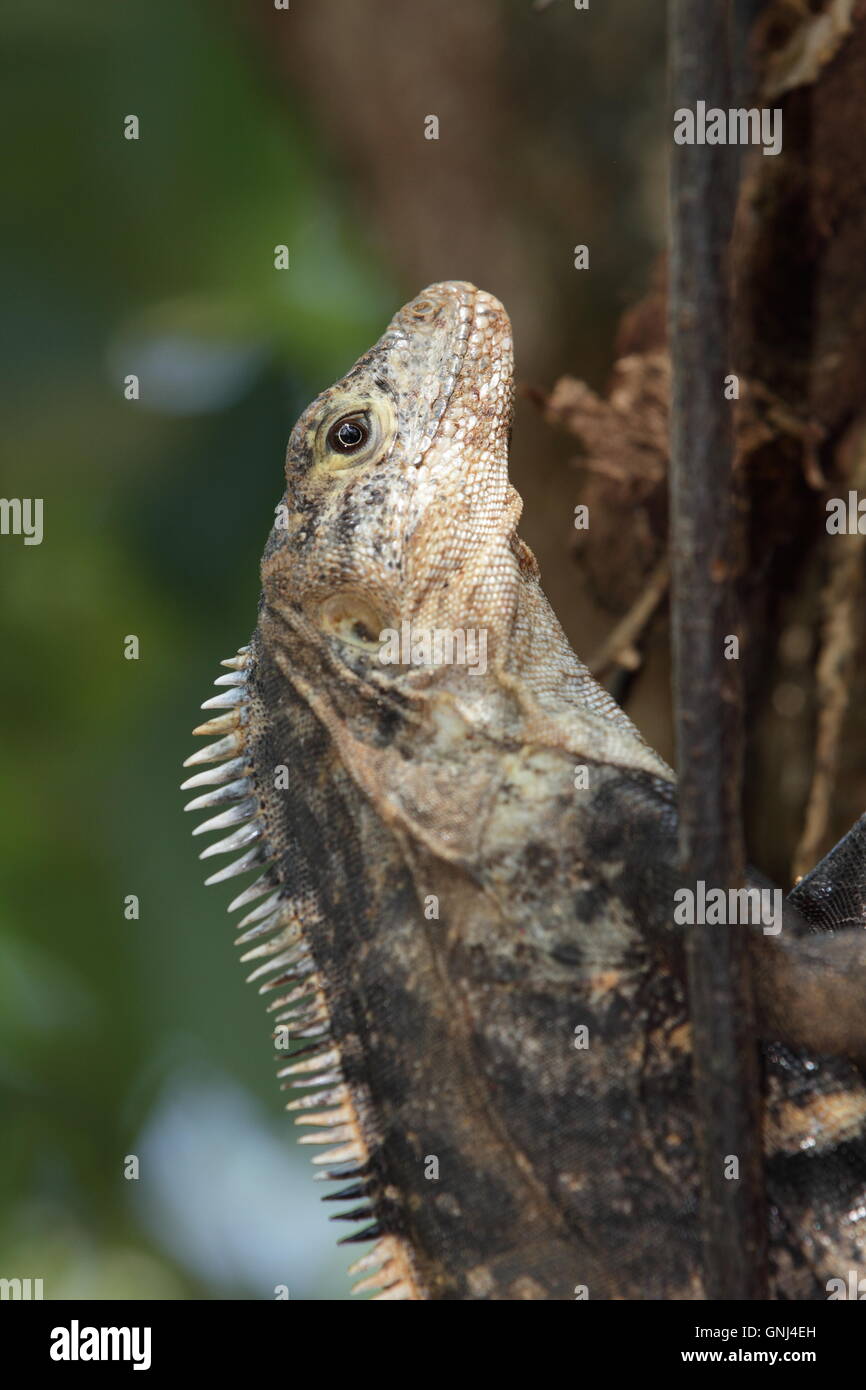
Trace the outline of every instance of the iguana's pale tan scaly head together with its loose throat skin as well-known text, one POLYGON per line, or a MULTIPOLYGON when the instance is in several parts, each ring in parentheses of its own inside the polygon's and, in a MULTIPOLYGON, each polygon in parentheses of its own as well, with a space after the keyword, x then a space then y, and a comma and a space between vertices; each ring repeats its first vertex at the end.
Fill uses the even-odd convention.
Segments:
MULTIPOLYGON (((309 666, 334 730, 350 688, 368 719, 427 696, 434 723, 456 702, 498 737, 567 742, 577 701, 594 756, 670 776, 541 594, 507 473, 513 395, 512 327, 492 295, 446 281, 400 309, 292 431, 260 632, 289 680, 309 666)), ((388 780, 381 766, 374 780, 388 780)))

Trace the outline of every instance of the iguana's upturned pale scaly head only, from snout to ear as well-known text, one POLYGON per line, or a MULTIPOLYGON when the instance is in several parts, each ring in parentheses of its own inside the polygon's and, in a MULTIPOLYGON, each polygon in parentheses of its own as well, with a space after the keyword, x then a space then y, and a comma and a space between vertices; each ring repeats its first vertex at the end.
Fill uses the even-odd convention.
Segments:
POLYGON ((406 304, 292 431, 261 571, 271 612, 359 669, 403 623, 482 623, 485 642, 506 641, 520 514, 512 375, 492 295, 455 281, 406 304))

